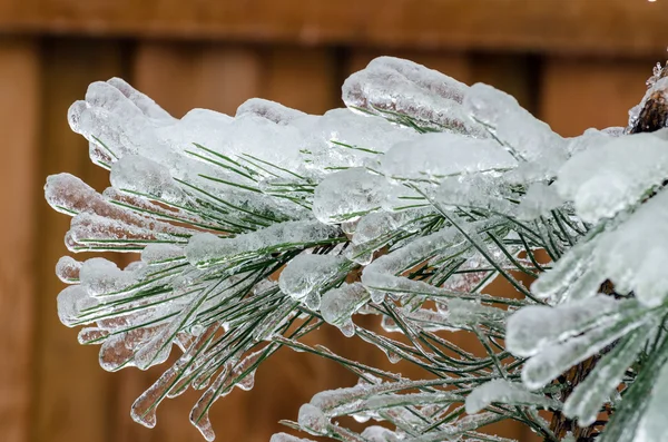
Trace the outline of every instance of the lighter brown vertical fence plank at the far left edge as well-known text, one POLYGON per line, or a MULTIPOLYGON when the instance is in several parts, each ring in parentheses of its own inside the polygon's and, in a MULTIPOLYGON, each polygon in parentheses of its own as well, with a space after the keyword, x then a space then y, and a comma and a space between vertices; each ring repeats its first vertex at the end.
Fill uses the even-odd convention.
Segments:
POLYGON ((27 442, 31 426, 35 308, 35 196, 39 126, 39 50, 0 38, 0 434, 27 442))

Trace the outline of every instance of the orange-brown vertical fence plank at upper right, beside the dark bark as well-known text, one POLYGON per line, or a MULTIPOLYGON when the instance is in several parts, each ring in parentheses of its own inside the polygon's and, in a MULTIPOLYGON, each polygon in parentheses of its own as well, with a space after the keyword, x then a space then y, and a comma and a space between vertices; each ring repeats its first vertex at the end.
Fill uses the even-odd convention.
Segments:
POLYGON ((563 136, 589 127, 626 126, 654 62, 550 58, 543 67, 540 117, 563 136))

